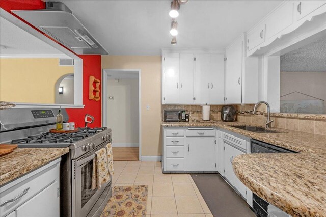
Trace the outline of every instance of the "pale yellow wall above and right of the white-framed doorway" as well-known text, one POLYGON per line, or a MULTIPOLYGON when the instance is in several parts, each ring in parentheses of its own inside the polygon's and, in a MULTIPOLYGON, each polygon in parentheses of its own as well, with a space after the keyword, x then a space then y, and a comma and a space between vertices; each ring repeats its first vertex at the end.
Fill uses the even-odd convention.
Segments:
POLYGON ((102 56, 102 68, 141 70, 142 156, 162 155, 161 57, 102 56))

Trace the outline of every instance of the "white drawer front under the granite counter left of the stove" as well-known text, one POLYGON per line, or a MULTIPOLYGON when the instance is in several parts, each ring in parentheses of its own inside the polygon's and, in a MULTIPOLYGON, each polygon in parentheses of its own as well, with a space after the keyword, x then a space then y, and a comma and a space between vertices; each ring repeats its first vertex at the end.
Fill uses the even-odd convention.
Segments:
POLYGON ((31 172, 30 174, 24 175, 17 180, 1 187, 0 204, 20 196, 16 201, 8 202, 1 206, 1 215, 5 216, 6 214, 9 214, 18 206, 22 205, 36 194, 43 191, 43 189, 48 187, 56 180, 59 181, 60 160, 61 159, 52 161, 49 164, 31 172))

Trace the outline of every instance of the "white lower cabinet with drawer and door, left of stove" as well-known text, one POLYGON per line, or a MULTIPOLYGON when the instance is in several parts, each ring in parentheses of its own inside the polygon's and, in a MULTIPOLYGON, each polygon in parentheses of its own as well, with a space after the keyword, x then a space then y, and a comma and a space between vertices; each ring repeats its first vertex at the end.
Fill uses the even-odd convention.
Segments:
POLYGON ((0 187, 0 216, 59 216, 60 160, 0 187))

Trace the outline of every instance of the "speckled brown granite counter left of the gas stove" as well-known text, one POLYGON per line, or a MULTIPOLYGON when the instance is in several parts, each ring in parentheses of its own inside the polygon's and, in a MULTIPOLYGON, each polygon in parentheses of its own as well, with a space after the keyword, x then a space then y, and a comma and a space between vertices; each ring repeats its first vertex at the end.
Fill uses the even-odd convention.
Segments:
POLYGON ((69 148, 17 148, 0 157, 0 185, 69 152, 69 148))

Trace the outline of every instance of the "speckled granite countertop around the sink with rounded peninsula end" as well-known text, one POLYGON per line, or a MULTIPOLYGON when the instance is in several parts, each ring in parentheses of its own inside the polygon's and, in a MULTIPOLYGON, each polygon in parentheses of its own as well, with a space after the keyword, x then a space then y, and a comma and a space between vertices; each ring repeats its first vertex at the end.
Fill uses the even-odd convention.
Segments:
POLYGON ((162 122, 163 127, 218 127, 300 152, 238 155, 233 170, 251 191, 292 216, 326 216, 326 136, 277 128, 273 130, 281 133, 254 133, 230 126, 244 124, 162 122))

